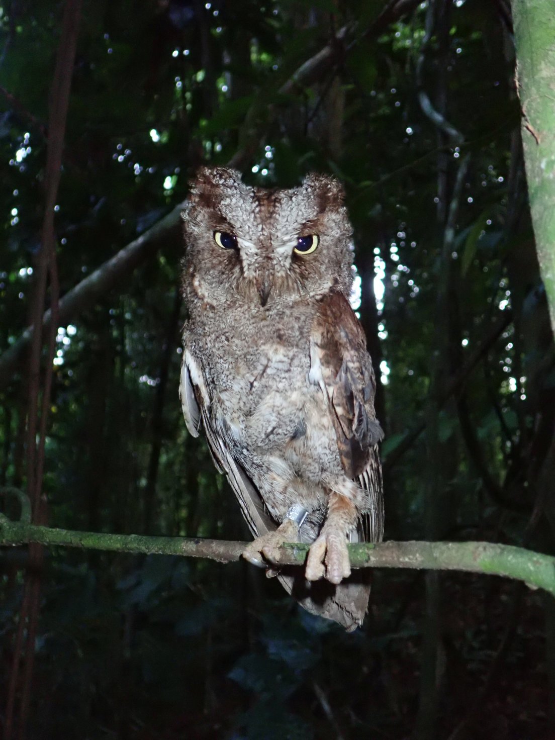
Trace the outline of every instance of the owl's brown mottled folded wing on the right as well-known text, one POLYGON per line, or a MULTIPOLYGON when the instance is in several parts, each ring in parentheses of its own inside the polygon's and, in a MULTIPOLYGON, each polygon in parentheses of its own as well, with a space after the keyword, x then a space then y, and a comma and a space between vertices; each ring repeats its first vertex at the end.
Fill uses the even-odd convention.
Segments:
POLYGON ((343 470, 367 492, 365 539, 383 536, 383 483, 377 443, 383 431, 374 411, 376 380, 366 338, 349 301, 338 292, 320 300, 310 349, 310 379, 322 388, 343 470))

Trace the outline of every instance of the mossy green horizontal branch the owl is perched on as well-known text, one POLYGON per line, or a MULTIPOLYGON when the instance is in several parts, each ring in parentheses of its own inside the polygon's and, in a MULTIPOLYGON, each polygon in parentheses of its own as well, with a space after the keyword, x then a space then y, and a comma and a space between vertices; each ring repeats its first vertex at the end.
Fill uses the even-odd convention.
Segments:
MULTIPOLYGON (((140 534, 102 534, 53 529, 11 522, 0 515, 0 545, 40 542, 127 553, 178 555, 232 562, 240 559, 246 542, 140 534)), ((286 544, 277 565, 302 565, 309 545, 286 544)), ((380 542, 349 545, 352 568, 416 568, 471 571, 523 581, 555 596, 555 557, 491 542, 380 542)))

